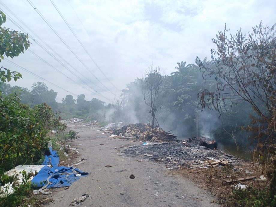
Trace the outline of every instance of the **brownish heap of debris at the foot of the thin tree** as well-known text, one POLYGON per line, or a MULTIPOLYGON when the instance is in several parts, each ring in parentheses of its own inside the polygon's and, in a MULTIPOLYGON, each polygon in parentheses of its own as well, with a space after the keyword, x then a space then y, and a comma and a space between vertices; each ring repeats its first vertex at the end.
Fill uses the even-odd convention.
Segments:
POLYGON ((132 137, 150 142, 178 140, 177 136, 167 133, 162 128, 152 129, 149 125, 141 123, 125 125, 111 131, 110 134, 113 134, 112 137, 132 137))

